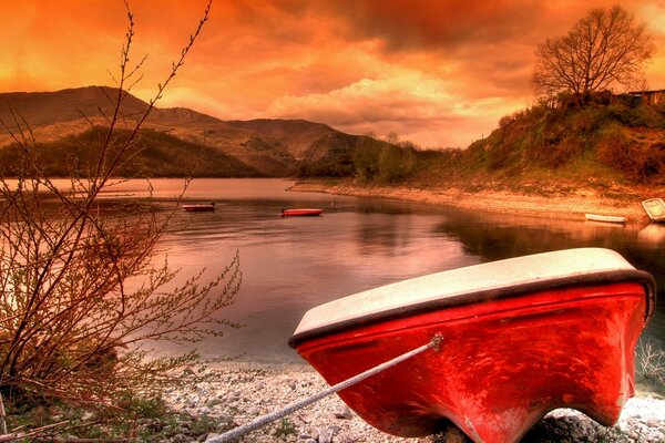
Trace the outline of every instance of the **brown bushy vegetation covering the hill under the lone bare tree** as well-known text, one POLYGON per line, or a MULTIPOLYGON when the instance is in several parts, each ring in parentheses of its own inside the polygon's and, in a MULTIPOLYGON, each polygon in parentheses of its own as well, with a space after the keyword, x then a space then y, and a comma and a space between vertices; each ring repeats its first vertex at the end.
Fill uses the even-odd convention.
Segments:
POLYGON ((663 110, 651 106, 540 104, 503 117, 499 128, 471 144, 462 157, 499 178, 546 169, 561 177, 662 182, 664 134, 663 110))

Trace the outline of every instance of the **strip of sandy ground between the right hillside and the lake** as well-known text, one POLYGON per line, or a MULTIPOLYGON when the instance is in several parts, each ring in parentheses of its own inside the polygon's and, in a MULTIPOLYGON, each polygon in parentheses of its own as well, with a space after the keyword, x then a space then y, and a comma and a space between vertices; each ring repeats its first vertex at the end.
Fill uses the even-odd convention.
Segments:
MULTIPOLYGON (((662 189, 654 189, 651 197, 633 196, 633 192, 613 190, 604 195, 597 189, 583 188, 565 194, 543 192, 518 194, 507 190, 469 192, 460 188, 413 188, 392 186, 352 186, 350 184, 327 184, 324 182, 298 182, 291 190, 319 192, 337 195, 398 198, 437 205, 451 205, 467 209, 501 212, 519 215, 554 217, 564 219, 584 219, 584 215, 602 214, 624 216, 628 223, 646 223, 648 216, 642 207, 642 199, 657 197, 662 189)), ((665 197, 665 194, 663 194, 665 197)))

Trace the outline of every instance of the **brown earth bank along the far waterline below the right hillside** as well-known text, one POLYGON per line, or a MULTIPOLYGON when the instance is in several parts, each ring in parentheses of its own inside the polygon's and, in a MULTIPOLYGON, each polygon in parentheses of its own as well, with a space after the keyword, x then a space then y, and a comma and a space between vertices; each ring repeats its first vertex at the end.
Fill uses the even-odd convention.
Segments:
POLYGON ((665 187, 626 186, 522 186, 521 189, 491 187, 422 187, 410 185, 378 186, 354 181, 308 179, 297 182, 290 190, 336 195, 397 198, 483 212, 501 212, 536 217, 584 219, 585 214, 627 217, 628 223, 644 224, 649 218, 642 207, 647 198, 665 197, 665 187))

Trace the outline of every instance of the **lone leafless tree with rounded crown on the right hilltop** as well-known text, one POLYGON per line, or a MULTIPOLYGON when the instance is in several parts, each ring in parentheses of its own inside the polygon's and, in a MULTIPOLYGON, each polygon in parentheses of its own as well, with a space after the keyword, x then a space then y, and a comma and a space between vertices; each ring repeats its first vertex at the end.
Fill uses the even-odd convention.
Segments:
POLYGON ((582 105, 595 91, 642 86, 643 66, 653 52, 645 24, 633 14, 618 4, 592 9, 567 34, 536 48, 532 84, 539 95, 569 92, 582 105))

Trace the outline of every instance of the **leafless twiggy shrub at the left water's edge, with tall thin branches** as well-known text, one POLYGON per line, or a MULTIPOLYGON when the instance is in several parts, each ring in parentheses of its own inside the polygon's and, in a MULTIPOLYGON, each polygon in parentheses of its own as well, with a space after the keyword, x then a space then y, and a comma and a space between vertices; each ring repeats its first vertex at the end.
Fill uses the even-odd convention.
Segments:
POLYGON ((127 6, 103 147, 89 167, 72 162, 64 185, 44 174, 28 123, 19 115, 2 122, 20 146, 12 177, 0 177, 0 393, 6 399, 105 404, 122 392, 171 381, 171 370, 196 359, 193 352, 153 358, 139 343, 197 341, 235 326, 218 311, 239 287, 237 255, 211 281, 203 282, 202 271, 176 285, 177 270, 166 259, 155 265, 155 246, 175 207, 100 199, 137 152, 143 123, 184 64, 209 10, 211 2, 145 111, 125 119, 123 100, 145 60, 130 65, 134 20, 127 6))

